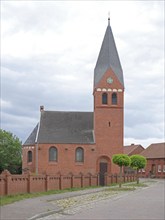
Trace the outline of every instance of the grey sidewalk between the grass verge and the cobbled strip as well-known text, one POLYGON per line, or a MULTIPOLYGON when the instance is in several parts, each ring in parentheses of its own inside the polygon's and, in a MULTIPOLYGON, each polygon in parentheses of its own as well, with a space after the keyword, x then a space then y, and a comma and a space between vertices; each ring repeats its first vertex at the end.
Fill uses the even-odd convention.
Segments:
POLYGON ((73 191, 61 194, 52 194, 37 198, 25 199, 9 205, 0 207, 0 220, 25 220, 36 219, 37 216, 47 216, 56 213, 61 208, 51 201, 72 198, 75 196, 88 195, 104 191, 106 187, 84 189, 81 191, 73 191))

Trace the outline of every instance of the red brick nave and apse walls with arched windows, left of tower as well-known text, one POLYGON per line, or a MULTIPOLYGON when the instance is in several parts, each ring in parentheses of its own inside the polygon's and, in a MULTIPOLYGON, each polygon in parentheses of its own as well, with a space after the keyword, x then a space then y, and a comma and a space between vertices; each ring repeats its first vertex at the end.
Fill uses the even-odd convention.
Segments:
MULTIPOLYGON (((38 145, 38 173, 57 174, 63 175, 70 172, 79 174, 83 173, 96 173, 96 151, 95 145, 81 145, 81 144, 39 144, 38 145), (49 148, 55 146, 58 149, 58 161, 49 161, 49 148), (77 147, 84 149, 84 162, 75 161, 75 151, 77 147)), ((27 163, 27 151, 26 147, 23 148, 23 169, 29 168, 31 172, 35 173, 36 165, 36 148, 33 152, 33 162, 27 163)))

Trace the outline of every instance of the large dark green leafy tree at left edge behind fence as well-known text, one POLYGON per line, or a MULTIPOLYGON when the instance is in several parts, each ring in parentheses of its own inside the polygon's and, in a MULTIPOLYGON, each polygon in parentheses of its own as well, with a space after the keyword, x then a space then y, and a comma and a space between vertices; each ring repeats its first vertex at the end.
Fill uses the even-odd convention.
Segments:
POLYGON ((0 129, 0 173, 7 169, 10 173, 21 173, 22 143, 12 133, 0 129))

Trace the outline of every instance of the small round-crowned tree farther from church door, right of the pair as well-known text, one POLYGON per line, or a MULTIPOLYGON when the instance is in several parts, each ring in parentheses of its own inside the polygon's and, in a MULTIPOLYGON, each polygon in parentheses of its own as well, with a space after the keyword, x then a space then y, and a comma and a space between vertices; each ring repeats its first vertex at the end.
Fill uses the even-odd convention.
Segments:
POLYGON ((138 172, 139 172, 139 169, 145 168, 147 164, 147 160, 145 157, 141 155, 137 155, 137 154, 130 156, 130 159, 131 159, 130 166, 137 171, 137 184, 139 184, 138 172))

